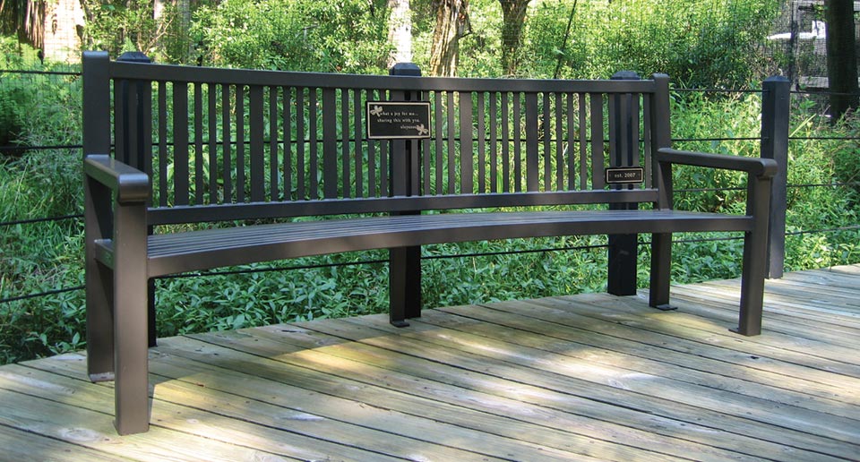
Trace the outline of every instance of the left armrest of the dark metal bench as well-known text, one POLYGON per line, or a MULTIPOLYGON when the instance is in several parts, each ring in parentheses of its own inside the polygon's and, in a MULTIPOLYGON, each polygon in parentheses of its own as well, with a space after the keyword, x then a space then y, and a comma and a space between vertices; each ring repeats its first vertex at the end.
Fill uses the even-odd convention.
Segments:
POLYGON ((87 156, 83 172, 110 189, 121 204, 145 202, 150 197, 149 175, 110 156, 87 156))

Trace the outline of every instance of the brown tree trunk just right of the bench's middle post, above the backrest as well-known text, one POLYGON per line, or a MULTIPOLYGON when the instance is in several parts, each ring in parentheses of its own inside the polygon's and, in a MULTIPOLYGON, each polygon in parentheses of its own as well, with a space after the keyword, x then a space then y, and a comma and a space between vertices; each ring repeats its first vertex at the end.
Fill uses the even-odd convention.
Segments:
POLYGON ((469 0, 434 0, 436 25, 430 46, 430 75, 457 73, 460 38, 469 30, 469 0))

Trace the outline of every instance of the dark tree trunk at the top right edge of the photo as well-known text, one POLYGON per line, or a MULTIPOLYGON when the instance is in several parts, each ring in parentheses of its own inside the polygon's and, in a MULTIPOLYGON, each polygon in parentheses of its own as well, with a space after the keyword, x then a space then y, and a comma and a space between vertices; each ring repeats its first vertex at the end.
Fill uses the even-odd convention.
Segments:
POLYGON ((827 74, 830 84, 830 116, 835 123, 849 109, 856 109, 857 55, 852 0, 827 0, 827 74))

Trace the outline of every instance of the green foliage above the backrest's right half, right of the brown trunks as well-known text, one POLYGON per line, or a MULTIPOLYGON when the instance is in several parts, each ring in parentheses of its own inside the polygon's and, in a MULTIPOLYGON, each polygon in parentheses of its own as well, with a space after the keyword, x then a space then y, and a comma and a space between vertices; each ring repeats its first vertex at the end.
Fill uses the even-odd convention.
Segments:
POLYGON ((760 78, 758 46, 776 13, 776 0, 541 2, 530 11, 522 72, 550 77, 561 58, 563 77, 632 70, 668 73, 688 87, 736 88, 760 78))

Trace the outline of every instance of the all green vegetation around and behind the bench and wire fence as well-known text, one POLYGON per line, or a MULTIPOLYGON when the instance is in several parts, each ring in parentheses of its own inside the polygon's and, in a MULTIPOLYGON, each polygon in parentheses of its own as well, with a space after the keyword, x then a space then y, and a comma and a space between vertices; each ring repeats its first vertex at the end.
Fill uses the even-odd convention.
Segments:
MULTIPOLYGON (((542 1, 529 7, 523 77, 597 78, 632 69, 665 72, 675 87, 756 89, 778 63, 761 54, 776 0, 542 1), (573 21, 570 21, 570 18, 573 21), (571 24, 568 31, 568 24, 571 24)), ((182 34, 151 20, 148 2, 92 5, 91 47, 112 56, 139 48, 164 62, 324 72, 385 73, 392 45, 385 1, 195 2, 182 34), (116 33, 122 30, 123 33, 116 33)), ((413 0, 417 64, 429 63, 430 0, 413 0)), ((168 12, 169 13, 169 12, 168 12)), ((172 12, 171 14, 180 14, 172 12)), ((503 16, 495 0, 470 2, 459 73, 502 75, 503 16)), ((176 27, 182 21, 170 22, 176 27)), ((0 40, 0 364, 83 347, 80 78, 38 64, 35 50, 0 40), (37 64, 33 64, 37 63, 37 64), (57 218, 44 220, 43 218, 57 218), (27 297, 30 294, 47 295, 27 297)), ((761 98, 755 92, 677 91, 677 146, 758 156, 761 98)), ((860 121, 838 124, 804 94, 793 98, 787 270, 860 261, 860 121), (824 139, 822 139, 824 138, 824 139), (813 185, 818 185, 813 187, 813 185), (827 185, 827 186, 821 186, 827 185), (821 232, 821 230, 831 230, 821 232), (815 232, 810 232, 815 231, 815 232)), ((679 207, 736 210, 740 177, 687 171, 679 207)), ((675 282, 739 275, 739 239, 676 244, 675 282)), ((643 236, 647 239, 647 236, 643 236)), ((559 237, 445 244, 424 249, 426 306, 600 291, 606 240, 559 237)), ((641 271, 648 266, 641 247, 641 271)), ((158 282, 159 336, 262 323, 382 312, 383 252, 251 265, 158 282), (287 270, 284 270, 287 268, 287 270), (290 270, 289 268, 300 268, 290 270)), ((641 283, 647 278, 644 274, 641 283)))

